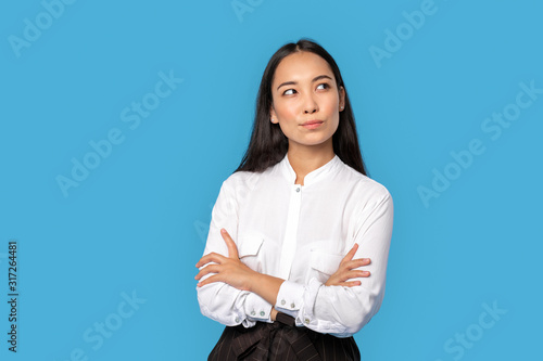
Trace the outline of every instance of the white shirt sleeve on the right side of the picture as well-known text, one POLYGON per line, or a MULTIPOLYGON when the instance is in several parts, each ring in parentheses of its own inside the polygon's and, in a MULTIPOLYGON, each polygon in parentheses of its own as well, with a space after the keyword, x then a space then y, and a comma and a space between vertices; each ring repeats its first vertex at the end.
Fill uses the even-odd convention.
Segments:
POLYGON ((374 205, 357 212, 354 242, 359 247, 353 257, 370 258, 371 263, 359 268, 370 272, 361 285, 326 286, 312 278, 307 284, 285 281, 275 308, 292 315, 296 325, 336 337, 357 333, 379 310, 384 295, 387 261, 392 236, 393 203, 387 191, 374 205))

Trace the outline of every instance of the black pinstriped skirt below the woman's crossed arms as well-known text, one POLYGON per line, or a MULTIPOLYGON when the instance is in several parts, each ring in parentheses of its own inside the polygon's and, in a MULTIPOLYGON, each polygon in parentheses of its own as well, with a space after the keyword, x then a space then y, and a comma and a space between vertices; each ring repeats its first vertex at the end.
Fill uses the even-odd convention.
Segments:
POLYGON ((274 323, 256 322, 253 327, 227 326, 209 361, 359 361, 354 338, 339 338, 306 327, 278 312, 274 323))

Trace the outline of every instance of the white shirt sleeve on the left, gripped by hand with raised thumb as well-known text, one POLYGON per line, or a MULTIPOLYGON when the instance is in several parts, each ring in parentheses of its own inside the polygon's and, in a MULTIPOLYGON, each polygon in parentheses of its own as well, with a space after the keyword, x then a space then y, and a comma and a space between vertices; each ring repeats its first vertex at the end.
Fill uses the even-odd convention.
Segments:
MULTIPOLYGON (((217 253, 228 257, 228 248, 220 235, 222 228, 225 228, 237 243, 238 202, 236 189, 231 183, 229 180, 223 183, 213 207, 204 256, 217 253)), ((203 267, 205 266, 200 269, 203 267)), ((213 274, 216 273, 206 274, 202 280, 213 274)), ((213 282, 202 287, 197 286, 197 294, 202 314, 224 325, 243 324, 245 327, 252 327, 256 321, 273 322, 272 305, 254 293, 237 289, 224 282, 213 282)))

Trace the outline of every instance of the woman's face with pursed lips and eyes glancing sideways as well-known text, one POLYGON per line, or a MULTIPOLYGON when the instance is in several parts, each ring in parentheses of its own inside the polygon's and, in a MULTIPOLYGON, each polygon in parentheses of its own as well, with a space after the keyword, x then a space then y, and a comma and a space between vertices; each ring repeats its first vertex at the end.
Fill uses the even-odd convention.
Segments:
POLYGON ((277 66, 272 83, 272 123, 299 146, 332 146, 345 91, 338 89, 328 63, 317 54, 296 52, 277 66))

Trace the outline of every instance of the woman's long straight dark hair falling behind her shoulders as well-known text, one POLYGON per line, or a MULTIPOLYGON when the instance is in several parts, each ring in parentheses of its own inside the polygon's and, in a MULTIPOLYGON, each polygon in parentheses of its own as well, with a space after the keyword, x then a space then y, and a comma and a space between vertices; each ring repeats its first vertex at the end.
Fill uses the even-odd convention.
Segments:
MULTIPOLYGON (((287 137, 282 133, 278 124, 273 124, 269 120, 273 98, 272 98, 272 81, 274 80, 275 70, 279 63, 288 55, 306 51, 317 54, 330 65, 333 76, 336 77, 338 89, 345 85, 341 77, 338 65, 333 57, 318 43, 308 39, 301 39, 296 43, 287 43, 282 46, 269 60, 266 69, 262 76, 258 95, 256 98, 256 112, 254 116, 253 132, 249 147, 241 159, 238 169, 241 171, 263 171, 268 167, 278 164, 289 149, 287 137)), ((333 152, 346 165, 351 166, 361 173, 366 173, 364 160, 362 159, 361 147, 358 145, 358 137, 356 136, 356 125, 354 115, 349 101, 349 94, 345 89, 345 107, 340 112, 338 129, 332 136, 333 152)))

